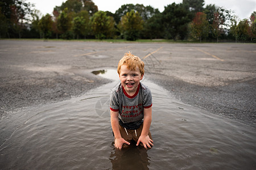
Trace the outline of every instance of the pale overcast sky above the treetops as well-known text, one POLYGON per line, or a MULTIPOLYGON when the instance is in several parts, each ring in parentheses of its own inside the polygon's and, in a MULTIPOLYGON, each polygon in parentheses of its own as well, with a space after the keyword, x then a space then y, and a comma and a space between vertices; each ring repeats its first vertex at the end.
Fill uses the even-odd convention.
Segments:
MULTIPOLYGON (((35 4, 35 8, 42 12, 43 15, 47 13, 52 14, 55 6, 61 6, 65 0, 27 0, 35 4)), ((173 2, 181 3, 182 0, 93 0, 95 5, 98 6, 98 10, 115 12, 119 7, 125 4, 133 3, 134 5, 139 3, 144 6, 152 6, 158 8, 160 12, 164 10, 164 6, 167 6, 173 2)), ((215 6, 225 7, 227 10, 233 10, 234 13, 240 19, 249 19, 253 11, 256 11, 256 0, 205 0, 205 6, 214 4, 215 6)))

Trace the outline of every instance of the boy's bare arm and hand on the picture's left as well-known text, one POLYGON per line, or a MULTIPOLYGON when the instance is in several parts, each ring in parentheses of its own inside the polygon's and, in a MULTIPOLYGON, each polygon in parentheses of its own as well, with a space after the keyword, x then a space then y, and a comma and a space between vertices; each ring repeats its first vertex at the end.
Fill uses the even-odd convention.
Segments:
POLYGON ((118 112, 114 112, 110 110, 110 121, 111 121, 112 130, 115 136, 115 147, 117 147, 118 149, 121 149, 123 146, 123 143, 130 145, 130 143, 125 141, 125 139, 123 139, 121 136, 121 133, 119 130, 118 112))

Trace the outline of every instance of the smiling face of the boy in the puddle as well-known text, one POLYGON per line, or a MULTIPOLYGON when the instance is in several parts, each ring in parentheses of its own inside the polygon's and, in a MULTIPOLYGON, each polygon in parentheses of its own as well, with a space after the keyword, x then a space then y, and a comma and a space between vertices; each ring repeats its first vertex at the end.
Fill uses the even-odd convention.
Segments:
POLYGON ((133 95, 136 92, 142 78, 143 75, 141 75, 138 67, 136 67, 136 70, 129 70, 126 65, 121 66, 119 79, 127 94, 133 95))

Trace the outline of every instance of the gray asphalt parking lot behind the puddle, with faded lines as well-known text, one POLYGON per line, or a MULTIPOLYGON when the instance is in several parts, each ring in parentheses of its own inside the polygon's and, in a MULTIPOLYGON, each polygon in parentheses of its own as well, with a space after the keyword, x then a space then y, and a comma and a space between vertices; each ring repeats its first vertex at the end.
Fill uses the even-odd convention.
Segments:
POLYGON ((131 51, 144 77, 183 103, 256 128, 256 44, 0 40, 0 117, 110 83, 131 51))

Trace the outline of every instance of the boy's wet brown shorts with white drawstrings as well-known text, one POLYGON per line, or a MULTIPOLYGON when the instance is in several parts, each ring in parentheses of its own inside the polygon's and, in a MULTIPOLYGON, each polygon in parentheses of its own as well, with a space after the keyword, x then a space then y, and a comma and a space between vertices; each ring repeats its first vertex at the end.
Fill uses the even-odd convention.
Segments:
MULTIPOLYGON (((136 130, 130 130, 130 129, 125 130, 125 128, 123 128, 123 126, 119 125, 119 130, 120 130, 122 138, 125 139, 125 141, 127 141, 129 143, 131 141, 135 141, 136 143, 138 142, 139 137, 141 136, 142 128, 143 128, 143 124, 141 126, 139 126, 139 128, 136 130), (127 135, 126 131, 127 131, 128 135, 127 135)), ((150 139, 152 139, 150 130, 148 130, 148 137, 150 137, 150 139)), ((139 143, 139 145, 143 146, 143 144, 141 142, 139 143)), ((127 146, 129 146, 129 145, 123 144, 122 147, 127 147, 127 146)))

